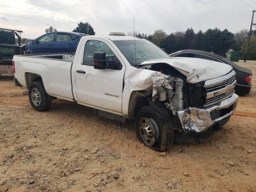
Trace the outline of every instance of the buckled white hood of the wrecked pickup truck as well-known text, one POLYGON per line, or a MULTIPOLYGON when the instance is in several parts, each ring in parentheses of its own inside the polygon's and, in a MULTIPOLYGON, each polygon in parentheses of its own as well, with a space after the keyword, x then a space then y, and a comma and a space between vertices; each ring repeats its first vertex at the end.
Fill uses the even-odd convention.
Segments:
POLYGON ((233 68, 230 65, 199 58, 170 58, 144 61, 139 66, 146 68, 152 64, 166 63, 174 67, 176 70, 184 74, 187 82, 197 83, 219 76, 223 76, 230 72, 233 68))

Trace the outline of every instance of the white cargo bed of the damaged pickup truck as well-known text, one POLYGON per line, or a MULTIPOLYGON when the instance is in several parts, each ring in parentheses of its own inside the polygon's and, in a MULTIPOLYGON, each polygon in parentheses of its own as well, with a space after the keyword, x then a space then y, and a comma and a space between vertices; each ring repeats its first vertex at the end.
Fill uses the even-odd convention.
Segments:
POLYGON ((69 53, 14 55, 15 78, 28 88, 36 74, 42 78, 45 90, 50 96, 72 101, 73 59, 74 54, 69 53))

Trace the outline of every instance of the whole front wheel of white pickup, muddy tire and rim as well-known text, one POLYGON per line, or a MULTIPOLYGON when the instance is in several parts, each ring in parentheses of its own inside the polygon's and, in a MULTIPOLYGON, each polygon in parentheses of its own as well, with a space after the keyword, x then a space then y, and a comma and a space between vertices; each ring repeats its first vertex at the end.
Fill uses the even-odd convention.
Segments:
POLYGON ((140 142, 155 151, 169 150, 173 144, 173 124, 163 119, 151 106, 142 107, 135 120, 136 135, 140 142))

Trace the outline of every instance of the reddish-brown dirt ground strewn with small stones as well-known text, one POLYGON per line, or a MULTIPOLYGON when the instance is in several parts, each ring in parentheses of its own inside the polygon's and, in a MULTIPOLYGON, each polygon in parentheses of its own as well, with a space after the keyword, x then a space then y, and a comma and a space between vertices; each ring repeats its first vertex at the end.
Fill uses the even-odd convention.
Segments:
POLYGON ((37 112, 0 76, 0 191, 256 192, 256 62, 239 65, 253 70, 253 88, 224 129, 167 156, 142 145, 132 123, 90 108, 54 100, 37 112))

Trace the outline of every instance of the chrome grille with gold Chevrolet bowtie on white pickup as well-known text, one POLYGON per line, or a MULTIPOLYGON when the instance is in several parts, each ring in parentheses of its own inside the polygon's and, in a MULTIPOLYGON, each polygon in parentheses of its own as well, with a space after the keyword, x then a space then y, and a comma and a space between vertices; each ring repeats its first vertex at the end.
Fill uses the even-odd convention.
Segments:
POLYGON ((234 94, 234 88, 236 86, 235 74, 232 70, 232 72, 219 77, 219 82, 214 82, 214 80, 206 81, 206 85, 204 86, 207 93, 205 107, 221 102, 234 94), (214 83, 210 84, 211 82, 214 83))

